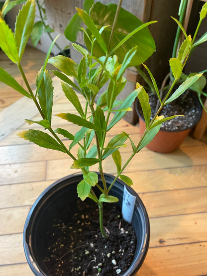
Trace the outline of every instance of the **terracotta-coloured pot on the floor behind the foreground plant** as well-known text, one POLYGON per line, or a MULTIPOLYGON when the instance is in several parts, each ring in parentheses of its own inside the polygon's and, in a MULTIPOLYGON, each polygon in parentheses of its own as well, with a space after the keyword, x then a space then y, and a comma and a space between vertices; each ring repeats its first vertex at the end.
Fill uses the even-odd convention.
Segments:
MULTIPOLYGON (((198 124, 202 116, 202 107, 198 100, 195 101, 196 105, 199 108, 199 116, 195 123, 186 128, 185 130, 176 130, 176 131, 167 131, 167 130, 159 130, 159 132, 155 135, 154 139, 146 146, 149 150, 159 153, 170 153, 179 149, 191 129, 198 124)), ((137 115, 139 116, 139 130, 140 137, 145 131, 145 121, 143 115, 140 114, 138 108, 138 101, 136 101, 135 108, 137 115)))

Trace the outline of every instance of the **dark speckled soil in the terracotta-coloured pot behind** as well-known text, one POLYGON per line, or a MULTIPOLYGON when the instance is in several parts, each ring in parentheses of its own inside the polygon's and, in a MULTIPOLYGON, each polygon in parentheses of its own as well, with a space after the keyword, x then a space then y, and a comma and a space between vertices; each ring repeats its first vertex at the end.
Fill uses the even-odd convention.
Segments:
MULTIPOLYGON (((155 115, 155 108, 157 104, 157 96, 150 95, 150 106, 152 109, 151 119, 155 115)), ((166 121, 162 124, 161 130, 165 131, 180 131, 193 127, 198 122, 200 111, 198 104, 195 104, 195 97, 188 94, 185 97, 179 97, 173 102, 165 105, 160 112, 160 115, 169 117, 173 115, 185 115, 185 117, 176 117, 172 120, 166 121)))

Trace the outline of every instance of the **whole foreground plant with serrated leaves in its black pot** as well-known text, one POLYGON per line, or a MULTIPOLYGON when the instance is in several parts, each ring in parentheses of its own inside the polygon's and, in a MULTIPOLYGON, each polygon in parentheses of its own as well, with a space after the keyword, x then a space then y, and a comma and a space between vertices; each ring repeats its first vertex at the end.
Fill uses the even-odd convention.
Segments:
MULTIPOLYGON (((113 35, 117 18, 119 13, 124 12, 121 9, 120 0, 118 5, 112 5, 111 10, 107 11, 107 15, 114 17, 109 38, 102 36, 103 30, 109 28, 107 25, 100 26, 98 29, 89 13, 77 8, 79 16, 88 27, 88 30, 83 29, 83 31, 91 42, 91 52, 89 49, 73 44, 73 47, 83 56, 80 64, 61 55, 49 59, 54 40, 48 50, 43 67, 37 74, 36 92, 32 92, 21 67, 21 57, 32 30, 35 1, 27 0, 19 11, 14 33, 3 19, 3 10, 7 4, 8 1, 4 3, 0 12, 0 34, 4 38, 0 40, 0 47, 18 66, 27 90, 2 68, 0 68, 0 81, 33 100, 42 119, 26 121, 28 124, 36 123, 43 128, 42 131, 30 129, 18 135, 38 146, 67 154, 72 163, 71 167, 81 171, 79 175, 68 176, 49 186, 32 206, 25 222, 23 234, 27 261, 33 273, 38 276, 135 275, 147 253, 149 220, 143 203, 130 187, 132 180, 125 176, 123 171, 132 158, 153 139, 161 124, 176 116, 166 118, 158 116, 162 107, 193 85, 201 77, 201 74, 186 80, 170 98, 168 93, 167 97, 160 102, 159 110, 151 120, 149 97, 139 84, 123 101, 117 101, 116 97, 125 84, 122 75, 130 66, 131 61, 137 57, 138 49, 136 46, 128 49, 122 59, 115 55, 115 51, 119 47, 127 45, 126 42, 130 42, 130 38, 136 32, 152 23, 137 26, 130 33, 125 33, 121 40, 116 41, 114 45, 113 35), (95 43, 98 43, 96 47, 101 47, 104 56, 100 57, 93 52, 95 43), (46 70, 48 62, 58 69, 53 70, 52 73, 62 80, 62 89, 76 110, 76 114, 60 113, 57 116, 78 125, 80 130, 77 133, 69 133, 62 128, 55 130, 52 128, 53 87, 51 76, 46 70), (94 70, 96 66, 97 68, 94 70), (69 77, 73 77, 77 84, 69 77), (107 90, 99 97, 95 106, 95 97, 107 81, 107 90), (84 107, 73 88, 84 96, 84 107), (146 122, 146 130, 140 141, 135 144, 130 135, 125 132, 120 132, 107 141, 108 132, 130 110, 136 97, 141 102, 146 122), (113 112, 114 114, 112 114, 113 112), (63 136, 67 138, 67 143, 63 143, 61 140, 63 136), (131 145, 131 154, 128 160, 122 164, 120 148, 126 146, 126 140, 131 145), (114 177, 103 171, 103 163, 108 159, 117 168, 117 174, 114 177), (98 173, 95 172, 94 165, 98 166, 98 173), (81 200, 78 201, 78 197, 81 200), (128 223, 121 218, 120 211, 116 213, 116 202, 119 206, 122 205, 123 218, 128 223), (103 212, 103 205, 104 210, 108 211, 103 212), (126 215, 125 209, 127 209, 126 215), (84 213, 85 210, 87 213, 84 213), (128 210, 130 210, 130 215, 128 210), (97 223, 97 214, 99 223, 97 223), (132 227, 129 224, 130 221, 132 221, 132 227), (94 224, 93 229, 91 228, 92 224, 94 224), (75 225, 78 228, 74 228, 75 225), (87 226, 88 231, 82 230, 83 226, 87 226), (128 236, 131 231, 132 235, 128 236), (114 245, 112 242, 117 236, 121 243, 115 242, 114 245), (124 236, 126 237, 123 238, 124 236), (75 240, 75 237, 78 238, 78 241, 75 240), (96 247, 96 242, 101 242, 101 245, 96 247), (124 243, 126 248, 123 248, 124 243), (98 258, 100 251, 102 259, 98 258), (124 253, 129 259, 124 260, 124 253), (74 261, 78 262, 73 263, 74 261), (81 261, 83 261, 83 265, 80 265, 81 261)), ((151 40, 148 31, 146 35, 151 40)), ((146 59, 146 56, 144 58, 140 56, 140 58, 146 59)), ((180 73, 180 68, 177 69, 173 62, 171 62, 171 68, 174 74, 180 73)))

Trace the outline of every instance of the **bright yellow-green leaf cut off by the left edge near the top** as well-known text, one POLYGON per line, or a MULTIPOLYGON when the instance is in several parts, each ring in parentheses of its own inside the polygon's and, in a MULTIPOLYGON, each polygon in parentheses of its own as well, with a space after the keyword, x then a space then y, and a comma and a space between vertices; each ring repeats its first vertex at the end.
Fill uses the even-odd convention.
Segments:
POLYGON ((18 50, 14 35, 6 25, 5 21, 0 18, 0 48, 7 55, 7 57, 14 63, 19 62, 18 50))

